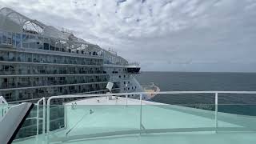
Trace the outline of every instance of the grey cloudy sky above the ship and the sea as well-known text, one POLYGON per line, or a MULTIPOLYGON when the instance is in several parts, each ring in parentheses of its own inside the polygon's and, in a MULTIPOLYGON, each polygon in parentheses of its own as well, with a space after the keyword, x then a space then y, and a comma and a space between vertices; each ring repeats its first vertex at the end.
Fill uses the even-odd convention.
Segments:
POLYGON ((151 71, 256 72, 256 0, 0 0, 151 71))

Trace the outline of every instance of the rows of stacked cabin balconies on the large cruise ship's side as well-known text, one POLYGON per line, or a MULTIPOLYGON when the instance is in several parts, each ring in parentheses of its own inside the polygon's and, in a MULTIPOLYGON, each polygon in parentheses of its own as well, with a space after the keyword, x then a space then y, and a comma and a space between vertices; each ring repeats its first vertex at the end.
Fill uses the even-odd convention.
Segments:
MULTIPOLYGON (((30 35, 20 37, 23 35, 0 31, 0 95, 8 102, 62 94, 105 93, 112 75, 126 73, 124 68, 105 68, 103 56, 94 51, 62 50, 46 43, 40 47, 38 43, 22 42, 30 35), (113 72, 115 69, 118 71, 113 72)), ((119 83, 114 82, 116 92, 119 83)))

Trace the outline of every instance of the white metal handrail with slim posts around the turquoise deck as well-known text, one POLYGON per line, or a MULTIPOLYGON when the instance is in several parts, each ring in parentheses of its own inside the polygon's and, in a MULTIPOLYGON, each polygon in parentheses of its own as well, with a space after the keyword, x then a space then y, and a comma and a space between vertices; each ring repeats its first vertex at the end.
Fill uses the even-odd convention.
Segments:
POLYGON ((162 92, 134 92, 134 93, 115 93, 115 94, 81 94, 81 95, 60 95, 53 96, 47 100, 47 142, 49 142, 50 134, 50 101, 56 98, 90 98, 90 97, 108 97, 108 96, 123 96, 126 95, 126 106, 127 106, 127 95, 134 94, 140 95, 140 133, 143 129, 142 125, 142 96, 143 94, 214 94, 215 99, 215 131, 218 130, 218 94, 256 94, 256 91, 162 91, 162 92))

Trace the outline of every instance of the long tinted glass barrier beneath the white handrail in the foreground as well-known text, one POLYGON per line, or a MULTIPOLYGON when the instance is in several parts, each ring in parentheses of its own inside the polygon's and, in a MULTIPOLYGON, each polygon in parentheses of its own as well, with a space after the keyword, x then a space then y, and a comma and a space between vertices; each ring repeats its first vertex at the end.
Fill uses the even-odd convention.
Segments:
MULTIPOLYGON (((198 131, 213 131, 214 133, 222 131, 255 132, 256 130, 253 125, 256 122, 254 116, 218 112, 218 121, 215 121, 214 110, 202 110, 187 105, 68 105, 50 107, 52 114, 49 142, 65 142, 122 134, 198 131)), ((218 105, 218 107, 229 109, 230 105, 218 105)), ((250 108, 252 107, 255 110, 256 106, 250 106, 250 108)), ((33 116, 31 114, 31 117, 33 116)), ((15 142, 27 142, 26 137, 36 135, 36 121, 30 118, 26 119, 16 137, 18 140, 15 142), (22 138, 25 139, 22 141, 22 138)), ((42 127, 41 122, 39 127, 42 127)), ((47 141, 47 137, 42 137, 42 129, 38 137, 29 138, 29 140, 36 142, 40 137, 47 141)))

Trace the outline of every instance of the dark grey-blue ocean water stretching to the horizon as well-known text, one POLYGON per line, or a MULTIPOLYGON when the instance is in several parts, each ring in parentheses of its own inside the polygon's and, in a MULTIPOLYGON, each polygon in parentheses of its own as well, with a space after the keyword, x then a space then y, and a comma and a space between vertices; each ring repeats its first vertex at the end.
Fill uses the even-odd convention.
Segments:
MULTIPOLYGON (((256 91, 256 73, 142 72, 136 78, 161 91, 256 91)), ((158 94, 150 101, 214 110, 214 94, 158 94)), ((256 116, 256 94, 218 94, 218 103, 221 112, 256 116)))

